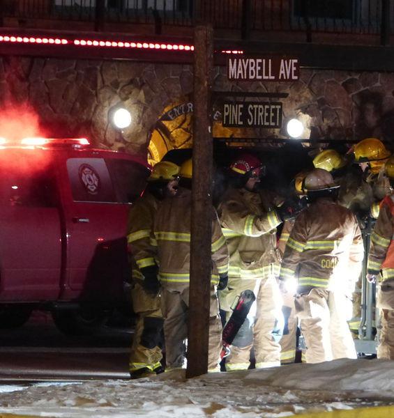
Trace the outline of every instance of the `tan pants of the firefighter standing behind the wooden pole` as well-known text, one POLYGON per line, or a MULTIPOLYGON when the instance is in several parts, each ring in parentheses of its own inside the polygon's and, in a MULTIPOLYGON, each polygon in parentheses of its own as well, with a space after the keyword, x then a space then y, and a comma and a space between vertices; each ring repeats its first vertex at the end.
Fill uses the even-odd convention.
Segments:
MULTIPOLYGON (((188 338, 189 288, 169 291, 162 288, 162 313, 165 317, 165 355, 167 369, 185 366, 186 340, 188 338)), ((209 317, 208 369, 218 368, 222 349, 222 323, 219 316, 218 297, 211 286, 211 310, 209 317)))

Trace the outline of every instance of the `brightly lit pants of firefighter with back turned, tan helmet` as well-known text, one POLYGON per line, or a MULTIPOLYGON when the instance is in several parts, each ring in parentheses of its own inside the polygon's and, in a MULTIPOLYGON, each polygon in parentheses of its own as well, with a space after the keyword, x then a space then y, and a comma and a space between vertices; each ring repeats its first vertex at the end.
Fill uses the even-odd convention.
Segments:
POLYGON ((357 357, 347 324, 351 302, 345 295, 314 288, 308 295, 298 296, 295 304, 305 336, 307 363, 357 357))

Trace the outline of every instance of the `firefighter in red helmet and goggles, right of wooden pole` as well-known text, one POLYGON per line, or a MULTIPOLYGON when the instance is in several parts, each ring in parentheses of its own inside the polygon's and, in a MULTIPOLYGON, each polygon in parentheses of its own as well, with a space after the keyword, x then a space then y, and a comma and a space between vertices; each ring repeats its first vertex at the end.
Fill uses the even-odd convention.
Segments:
POLYGON ((280 366, 283 316, 275 277, 280 265, 276 227, 291 216, 292 208, 285 203, 278 208, 282 199, 258 192, 264 171, 254 155, 237 156, 229 169, 229 189, 218 207, 230 254, 229 283, 219 292, 220 308, 228 318, 242 291, 250 289, 256 296, 254 318, 250 314, 230 346, 227 371, 248 369, 252 348, 256 368, 280 366))

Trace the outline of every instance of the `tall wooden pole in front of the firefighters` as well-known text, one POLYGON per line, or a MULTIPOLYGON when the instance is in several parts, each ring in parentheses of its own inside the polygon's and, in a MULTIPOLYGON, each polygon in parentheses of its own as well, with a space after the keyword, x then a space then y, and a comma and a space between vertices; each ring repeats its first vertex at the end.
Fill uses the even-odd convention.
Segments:
POLYGON ((213 29, 195 27, 192 224, 187 378, 208 371, 213 139, 210 116, 213 29))

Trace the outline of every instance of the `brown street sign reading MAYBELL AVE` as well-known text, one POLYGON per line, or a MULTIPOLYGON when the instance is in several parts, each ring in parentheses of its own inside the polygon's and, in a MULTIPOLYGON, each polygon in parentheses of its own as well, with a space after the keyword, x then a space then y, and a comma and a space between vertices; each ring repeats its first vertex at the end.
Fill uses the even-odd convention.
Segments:
POLYGON ((246 58, 227 59, 229 80, 265 82, 293 82, 299 78, 299 63, 296 58, 246 58))

